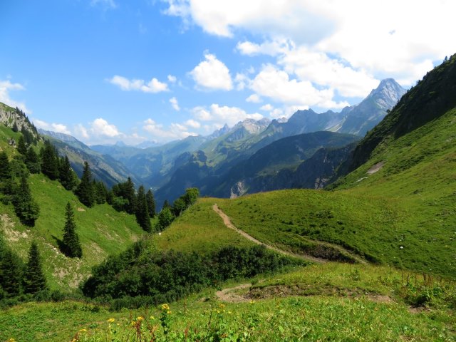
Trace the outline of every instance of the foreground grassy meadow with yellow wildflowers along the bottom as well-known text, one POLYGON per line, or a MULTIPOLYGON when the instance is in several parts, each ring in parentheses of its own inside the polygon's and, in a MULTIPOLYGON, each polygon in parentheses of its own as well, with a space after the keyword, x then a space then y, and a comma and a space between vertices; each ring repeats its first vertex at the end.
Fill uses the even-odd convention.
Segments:
POLYGON ((448 282, 423 281, 388 267, 328 263, 254 283, 239 290, 234 283, 225 285, 233 290, 207 289, 169 304, 169 314, 160 306, 109 312, 73 301, 22 304, 0 313, 0 340, 70 341, 78 334, 81 341, 135 341, 138 331, 147 341, 456 338, 455 286, 448 282), (410 306, 423 299, 427 309, 410 306))

